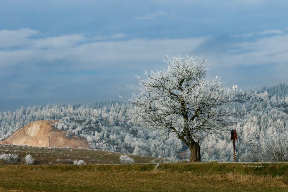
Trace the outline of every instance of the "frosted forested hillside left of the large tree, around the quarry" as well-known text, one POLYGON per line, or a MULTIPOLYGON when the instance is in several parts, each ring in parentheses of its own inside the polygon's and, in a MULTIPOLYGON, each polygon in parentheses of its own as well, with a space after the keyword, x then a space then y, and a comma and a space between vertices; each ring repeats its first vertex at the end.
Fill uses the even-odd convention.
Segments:
POLYGON ((181 141, 174 137, 165 140, 156 131, 133 126, 129 110, 131 106, 118 102, 22 107, 0 114, 0 137, 3 140, 32 121, 60 119, 56 128, 68 130, 68 136, 86 138, 92 149, 176 158, 181 141))

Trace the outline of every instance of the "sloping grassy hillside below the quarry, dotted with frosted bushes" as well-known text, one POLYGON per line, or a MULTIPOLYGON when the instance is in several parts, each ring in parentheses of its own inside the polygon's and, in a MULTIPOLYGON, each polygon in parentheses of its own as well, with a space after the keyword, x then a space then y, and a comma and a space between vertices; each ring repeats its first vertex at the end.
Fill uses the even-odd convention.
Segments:
MULTIPOLYGON (((56 147, 29 147, 17 145, 1 145, 1 154, 17 154, 18 160, 4 162, 0 159, 0 165, 23 165, 24 158, 30 154, 34 159, 35 165, 67 165, 73 164, 75 160, 84 160, 86 164, 120 164, 119 157, 122 153, 107 151, 95 151, 87 149, 56 148, 56 147)), ((158 162, 156 157, 141 157, 139 155, 125 154, 134 159, 135 163, 158 162)))

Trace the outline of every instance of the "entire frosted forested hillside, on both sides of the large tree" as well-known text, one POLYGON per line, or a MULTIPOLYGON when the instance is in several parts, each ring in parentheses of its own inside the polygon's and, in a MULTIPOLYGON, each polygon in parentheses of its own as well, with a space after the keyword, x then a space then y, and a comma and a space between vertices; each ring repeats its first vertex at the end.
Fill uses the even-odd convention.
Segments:
MULTIPOLYGON (((288 84, 265 86, 257 91, 238 91, 235 101, 226 109, 236 121, 237 161, 288 161, 288 84)), ((67 135, 88 140, 92 149, 176 158, 186 149, 182 142, 170 135, 165 140, 156 130, 133 125, 129 111, 133 107, 124 102, 86 104, 48 104, 46 107, 21 107, 15 112, 0 113, 0 139, 3 140, 20 127, 36 120, 60 120, 55 123, 67 135)), ((222 138, 207 135, 200 141, 202 161, 233 161, 230 132, 222 138)), ((189 157, 190 151, 184 153, 189 157)))

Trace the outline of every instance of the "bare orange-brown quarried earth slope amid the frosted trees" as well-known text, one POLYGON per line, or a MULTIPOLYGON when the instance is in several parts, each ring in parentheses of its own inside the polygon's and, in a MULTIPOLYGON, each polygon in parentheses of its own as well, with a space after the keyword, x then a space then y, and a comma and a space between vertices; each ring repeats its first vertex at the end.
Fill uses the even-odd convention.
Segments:
POLYGON ((88 149, 86 139, 78 136, 67 137, 67 131, 52 126, 57 121, 34 121, 18 129, 0 144, 29 145, 35 147, 72 147, 88 149))

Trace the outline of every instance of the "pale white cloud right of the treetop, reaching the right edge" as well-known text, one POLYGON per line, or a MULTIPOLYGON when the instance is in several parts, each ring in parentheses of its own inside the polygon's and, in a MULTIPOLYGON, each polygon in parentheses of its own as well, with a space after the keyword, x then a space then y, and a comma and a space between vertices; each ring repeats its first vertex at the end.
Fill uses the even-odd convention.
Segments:
MULTIPOLYGON (((229 47, 221 54, 214 53, 211 56, 213 65, 218 67, 248 67, 269 66, 277 69, 277 73, 283 73, 278 66, 288 63, 288 34, 274 35, 257 40, 228 43, 229 47)), ((256 73, 256 71, 255 71, 256 73)), ((269 73, 269 71, 267 71, 269 73)), ((276 72, 275 72, 276 73, 276 72)), ((260 74, 257 74, 260 75, 260 74)))

